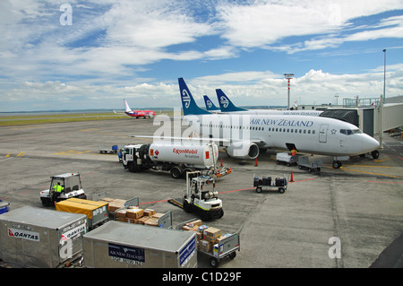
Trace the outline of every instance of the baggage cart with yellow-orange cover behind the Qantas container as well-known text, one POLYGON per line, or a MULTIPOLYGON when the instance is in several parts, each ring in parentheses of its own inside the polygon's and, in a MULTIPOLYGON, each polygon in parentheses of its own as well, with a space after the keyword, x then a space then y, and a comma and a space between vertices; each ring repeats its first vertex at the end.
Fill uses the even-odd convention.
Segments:
POLYGON ((95 202, 72 197, 56 203, 56 211, 87 215, 90 230, 108 221, 107 202, 95 202))

